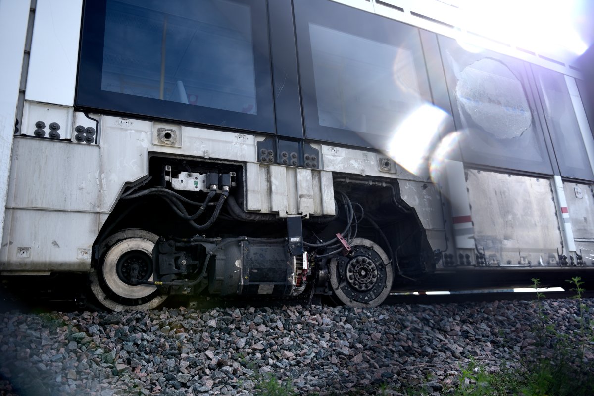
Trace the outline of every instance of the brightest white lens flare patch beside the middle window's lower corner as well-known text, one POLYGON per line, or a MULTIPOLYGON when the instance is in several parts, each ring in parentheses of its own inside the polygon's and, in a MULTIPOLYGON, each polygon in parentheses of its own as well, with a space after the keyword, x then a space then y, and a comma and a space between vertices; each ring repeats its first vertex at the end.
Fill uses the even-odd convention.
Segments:
POLYGON ((390 143, 390 157, 407 171, 419 174, 450 115, 439 107, 422 104, 397 127, 390 143))

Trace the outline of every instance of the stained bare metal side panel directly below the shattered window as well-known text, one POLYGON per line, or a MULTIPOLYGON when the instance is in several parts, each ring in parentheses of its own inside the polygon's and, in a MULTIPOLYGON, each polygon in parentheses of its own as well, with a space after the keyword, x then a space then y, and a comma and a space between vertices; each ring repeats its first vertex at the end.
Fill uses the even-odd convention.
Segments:
POLYGON ((480 253, 502 266, 557 266, 562 239, 550 180, 471 169, 466 179, 480 253))

